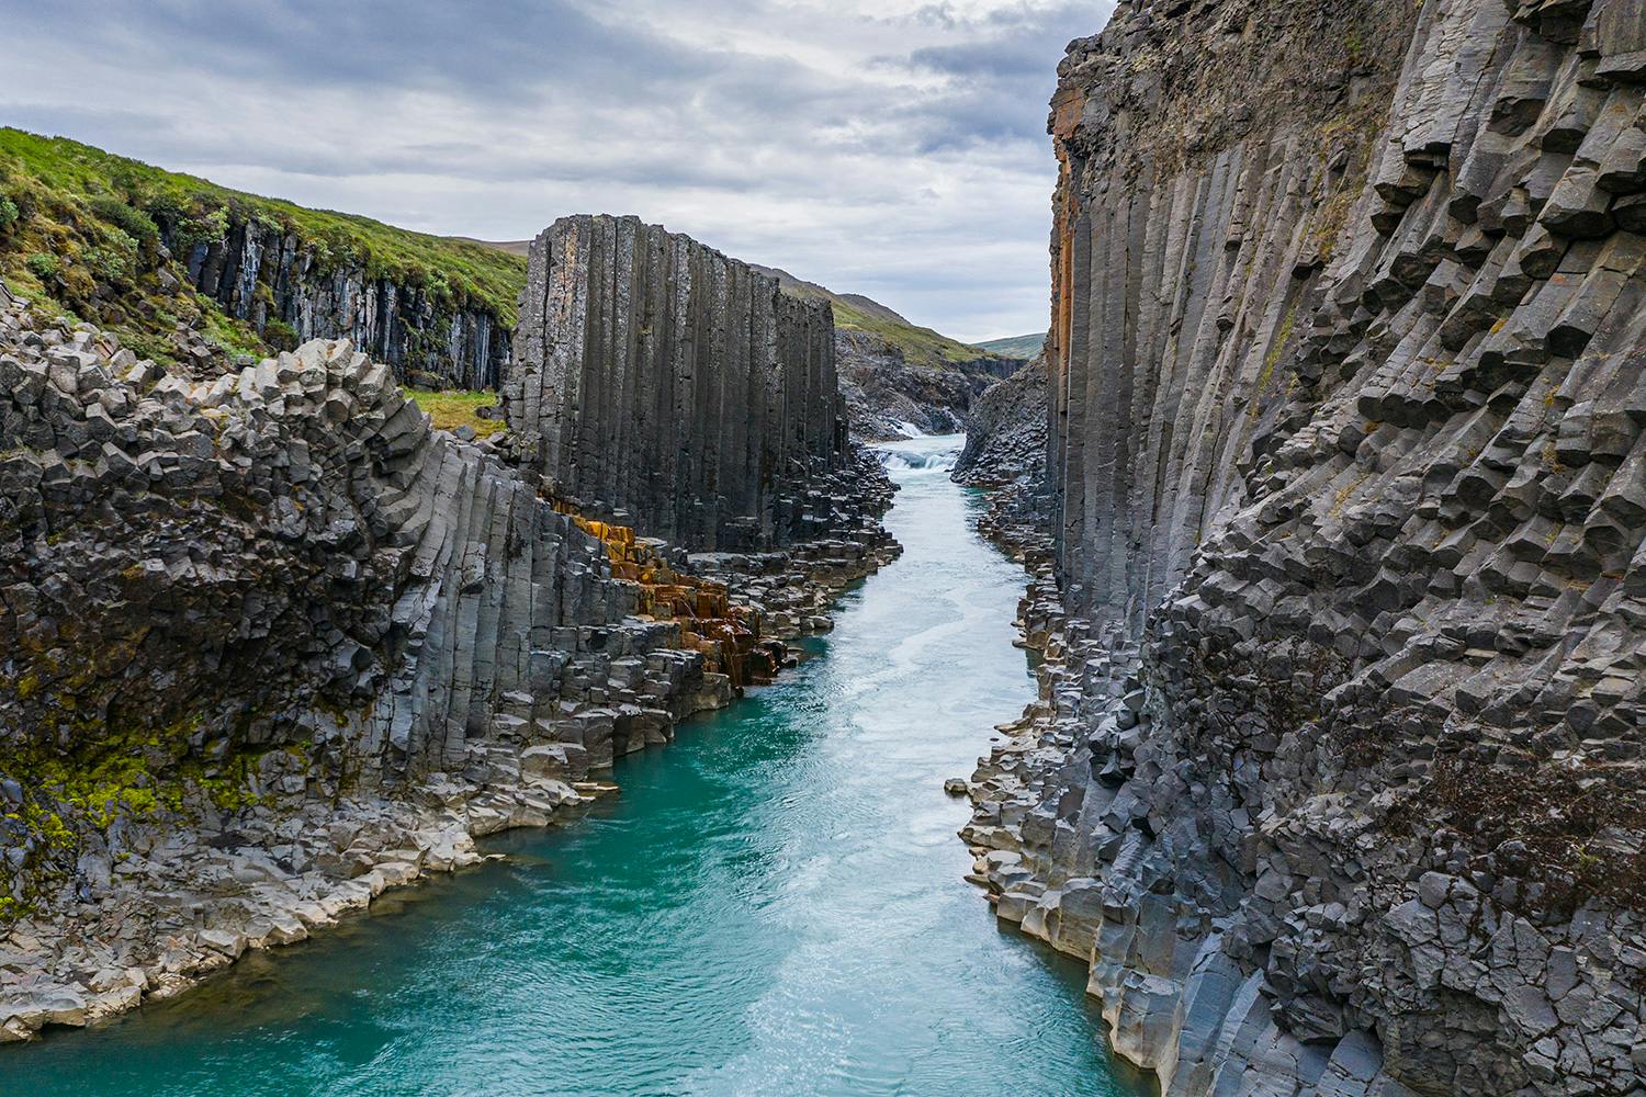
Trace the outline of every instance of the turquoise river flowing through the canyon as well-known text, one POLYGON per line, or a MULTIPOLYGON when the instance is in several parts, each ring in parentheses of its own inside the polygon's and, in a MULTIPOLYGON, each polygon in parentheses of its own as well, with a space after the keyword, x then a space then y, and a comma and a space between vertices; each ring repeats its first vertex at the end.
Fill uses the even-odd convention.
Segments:
POLYGON ((958 442, 892 447, 907 551, 815 658, 621 761, 619 796, 178 1000, 0 1049, 0 1097, 1149 1092, 1083 965, 961 878, 943 778, 1034 683, 1024 576, 948 480, 958 442))

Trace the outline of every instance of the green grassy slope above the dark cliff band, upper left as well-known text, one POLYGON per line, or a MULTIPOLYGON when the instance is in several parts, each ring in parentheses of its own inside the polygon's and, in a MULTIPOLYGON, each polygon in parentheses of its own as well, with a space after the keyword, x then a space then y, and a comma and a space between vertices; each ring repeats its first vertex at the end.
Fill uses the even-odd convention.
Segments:
POLYGON ((431 237, 369 217, 306 209, 230 191, 67 138, 0 128, 0 275, 33 299, 110 327, 140 352, 166 357, 176 322, 229 350, 267 352, 260 337, 188 289, 178 263, 194 243, 224 238, 230 224, 258 222, 313 247, 321 271, 360 270, 418 286, 453 308, 489 311, 514 326, 525 260, 472 240, 431 237), (174 260, 161 255, 161 227, 174 260), (183 281, 170 289, 161 271, 183 281))

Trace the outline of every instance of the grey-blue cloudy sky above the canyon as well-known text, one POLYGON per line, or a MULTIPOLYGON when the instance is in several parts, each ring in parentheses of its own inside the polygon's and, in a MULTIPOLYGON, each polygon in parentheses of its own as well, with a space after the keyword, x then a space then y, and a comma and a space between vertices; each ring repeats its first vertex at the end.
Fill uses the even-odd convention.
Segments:
POLYGON ((0 123, 423 232, 640 214, 1042 331, 1047 99, 1108 0, 7 3, 0 123))

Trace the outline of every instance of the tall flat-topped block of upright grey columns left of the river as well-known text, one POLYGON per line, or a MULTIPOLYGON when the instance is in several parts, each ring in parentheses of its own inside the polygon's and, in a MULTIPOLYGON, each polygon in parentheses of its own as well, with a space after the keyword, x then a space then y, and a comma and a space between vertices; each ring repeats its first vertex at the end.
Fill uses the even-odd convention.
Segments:
POLYGON ((828 303, 634 217, 532 243, 504 405, 556 492, 695 549, 821 533, 848 454, 828 303))

